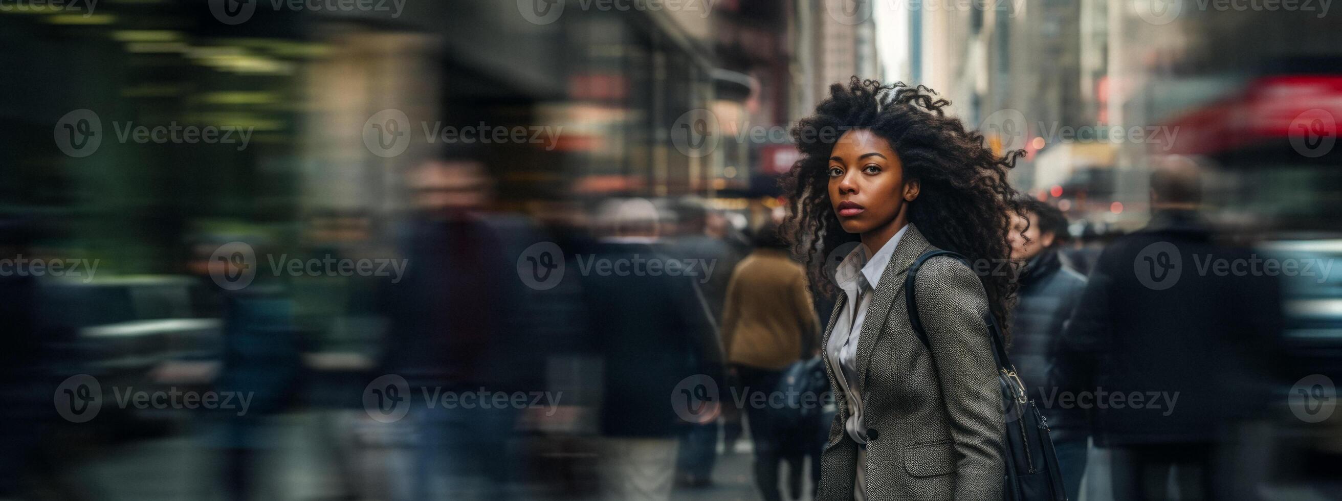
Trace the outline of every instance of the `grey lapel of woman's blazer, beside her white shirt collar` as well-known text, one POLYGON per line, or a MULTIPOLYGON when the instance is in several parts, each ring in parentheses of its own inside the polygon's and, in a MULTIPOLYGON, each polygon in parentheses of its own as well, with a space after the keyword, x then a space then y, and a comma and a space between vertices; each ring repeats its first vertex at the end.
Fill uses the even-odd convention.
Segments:
MULTIPOLYGON (((880 281, 876 284, 876 291, 871 296, 871 304, 867 305, 867 316, 862 320, 862 334, 858 339, 858 387, 867 387, 867 367, 871 364, 871 351, 876 346, 876 340, 880 338, 882 327, 886 326, 886 319, 890 316, 891 304, 895 297, 902 296, 905 291, 905 273, 909 267, 914 264, 918 256, 922 256, 923 250, 931 246, 927 238, 922 236, 922 232, 914 226, 913 222, 909 224, 909 230, 899 237, 899 242, 895 244, 895 252, 890 256, 890 263, 886 264, 886 269, 880 272, 880 281)), ((900 303, 902 304, 902 303, 900 303)))

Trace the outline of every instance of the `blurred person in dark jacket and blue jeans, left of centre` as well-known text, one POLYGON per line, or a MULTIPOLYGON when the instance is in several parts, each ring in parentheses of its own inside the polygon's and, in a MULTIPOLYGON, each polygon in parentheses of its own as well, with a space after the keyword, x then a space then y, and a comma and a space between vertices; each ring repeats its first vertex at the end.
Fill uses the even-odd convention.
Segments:
MULTIPOLYGON (((416 209, 400 244, 408 265, 400 283, 382 284, 380 309, 391 326, 378 374, 442 395, 487 398, 531 387, 541 367, 523 332, 526 296, 503 257, 507 229, 490 212, 494 180, 484 163, 429 161, 408 182, 416 209)), ((419 439, 413 470, 405 472, 411 489, 401 494, 507 498, 519 465, 513 449, 519 414, 514 406, 412 407, 419 439)))

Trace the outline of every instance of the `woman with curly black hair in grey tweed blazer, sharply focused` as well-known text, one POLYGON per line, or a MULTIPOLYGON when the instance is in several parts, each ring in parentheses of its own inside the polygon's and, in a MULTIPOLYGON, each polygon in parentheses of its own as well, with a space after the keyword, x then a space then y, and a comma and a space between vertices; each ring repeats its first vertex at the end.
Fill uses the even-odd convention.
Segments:
POLYGON ((1005 423, 984 315, 1007 326, 1012 268, 997 264, 1011 255, 1007 169, 1020 153, 993 154, 926 87, 854 78, 829 92, 792 131, 803 157, 786 182, 789 234, 812 283, 837 296, 821 347, 839 414, 817 498, 1000 500, 1005 423), (837 252, 848 242, 860 244, 837 252), (950 257, 919 271, 929 350, 905 277, 938 248, 985 273, 950 257), (827 256, 843 257, 833 284, 827 256))

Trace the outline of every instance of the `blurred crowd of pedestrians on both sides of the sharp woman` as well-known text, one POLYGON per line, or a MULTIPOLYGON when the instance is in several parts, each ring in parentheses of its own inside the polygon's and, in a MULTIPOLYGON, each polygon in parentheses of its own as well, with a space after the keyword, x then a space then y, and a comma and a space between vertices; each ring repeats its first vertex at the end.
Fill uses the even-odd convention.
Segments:
MULTIPOLYGON (((1204 175, 1159 165, 1151 221, 1104 245, 1016 201, 1011 351, 1070 498, 1329 482, 1304 465, 1337 457, 1335 426, 1291 439, 1290 415, 1312 414, 1286 405, 1300 367, 1282 348, 1283 285, 1198 268, 1256 256, 1198 212, 1204 175)), ((664 500, 713 493, 735 454, 764 500, 813 496, 829 308, 778 230, 782 205, 502 212, 470 159, 407 182, 415 210, 391 241, 365 217, 317 214, 301 249, 201 234, 181 277, 5 276, 3 496, 153 497, 107 465, 185 461, 169 468, 187 490, 168 497, 664 500), (290 252, 399 271, 272 267, 290 252), (173 439, 184 449, 149 446, 173 439)), ((42 232, 5 221, 4 256, 54 256, 42 232)))

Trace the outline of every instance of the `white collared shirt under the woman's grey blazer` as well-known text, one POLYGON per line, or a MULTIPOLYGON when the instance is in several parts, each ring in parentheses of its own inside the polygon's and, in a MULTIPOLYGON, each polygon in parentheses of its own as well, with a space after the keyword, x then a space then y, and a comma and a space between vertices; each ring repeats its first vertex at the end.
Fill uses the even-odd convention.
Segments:
POLYGON ((847 300, 839 317, 835 319, 835 328, 829 332, 829 343, 825 346, 825 355, 829 364, 837 367, 835 379, 848 403, 848 421, 844 430, 858 443, 867 443, 867 426, 862 414, 862 388, 858 384, 858 342, 862 338, 862 321, 867 316, 867 305, 871 304, 871 293, 880 283, 880 273, 886 271, 890 257, 899 245, 899 238, 909 229, 906 224, 894 237, 890 238, 875 255, 866 245, 859 244, 835 269, 835 281, 843 289, 847 300), (859 297, 860 296, 860 297, 859 297))

